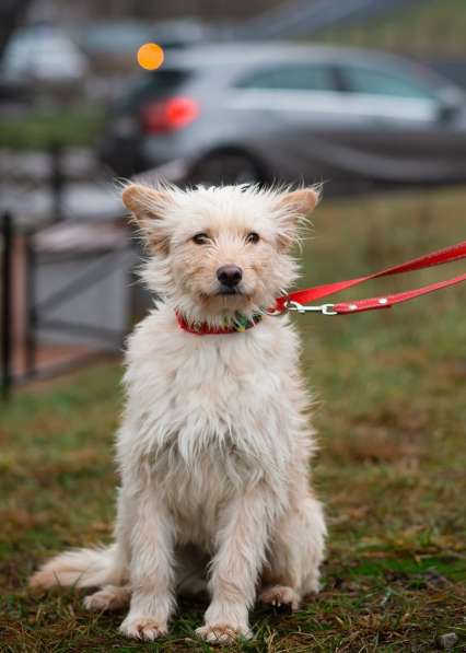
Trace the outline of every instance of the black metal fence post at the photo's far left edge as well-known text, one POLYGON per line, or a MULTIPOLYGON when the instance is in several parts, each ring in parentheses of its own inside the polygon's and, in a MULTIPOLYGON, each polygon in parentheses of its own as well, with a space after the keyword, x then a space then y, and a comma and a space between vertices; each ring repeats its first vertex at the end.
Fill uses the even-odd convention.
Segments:
POLYGON ((12 247, 13 247, 13 222, 10 213, 5 212, 1 221, 1 234, 3 241, 2 275, 1 275, 1 398, 7 400, 10 396, 12 385, 12 247))

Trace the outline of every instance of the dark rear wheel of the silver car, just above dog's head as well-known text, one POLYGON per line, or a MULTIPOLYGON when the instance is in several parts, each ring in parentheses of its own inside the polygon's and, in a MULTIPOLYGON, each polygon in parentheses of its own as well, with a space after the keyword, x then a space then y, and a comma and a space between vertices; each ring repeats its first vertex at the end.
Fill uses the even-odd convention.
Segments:
POLYGON ((265 182, 260 166, 246 153, 212 152, 196 163, 190 174, 193 184, 258 184, 265 182))

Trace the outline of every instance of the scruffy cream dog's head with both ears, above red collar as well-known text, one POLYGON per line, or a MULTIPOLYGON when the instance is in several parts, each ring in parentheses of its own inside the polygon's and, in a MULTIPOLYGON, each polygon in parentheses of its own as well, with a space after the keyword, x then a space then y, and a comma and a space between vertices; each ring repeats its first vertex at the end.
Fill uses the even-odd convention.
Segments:
POLYGON ((123 201, 151 254, 149 288, 188 318, 215 324, 264 311, 294 281, 290 248, 318 191, 133 184, 123 201))

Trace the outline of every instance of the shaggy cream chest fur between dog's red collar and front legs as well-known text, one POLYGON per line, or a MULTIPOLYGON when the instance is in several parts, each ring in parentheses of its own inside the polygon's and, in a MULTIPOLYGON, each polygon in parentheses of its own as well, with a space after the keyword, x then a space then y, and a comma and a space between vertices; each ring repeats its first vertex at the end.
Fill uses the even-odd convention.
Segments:
POLYGON ((131 452, 150 454, 158 475, 185 466, 198 485, 213 464, 229 485, 278 476, 298 423, 293 335, 263 325, 226 337, 148 335, 141 329, 129 350, 131 452))

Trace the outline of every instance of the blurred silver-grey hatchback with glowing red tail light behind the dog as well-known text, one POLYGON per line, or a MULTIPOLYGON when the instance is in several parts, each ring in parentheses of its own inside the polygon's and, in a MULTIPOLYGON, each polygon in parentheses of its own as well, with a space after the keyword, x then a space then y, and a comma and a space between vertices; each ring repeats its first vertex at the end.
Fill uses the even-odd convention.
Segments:
POLYGON ((112 107, 100 152, 121 176, 183 161, 213 184, 444 184, 466 179, 466 101, 392 55, 210 44, 141 74, 112 107))

